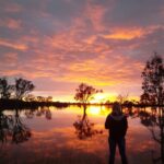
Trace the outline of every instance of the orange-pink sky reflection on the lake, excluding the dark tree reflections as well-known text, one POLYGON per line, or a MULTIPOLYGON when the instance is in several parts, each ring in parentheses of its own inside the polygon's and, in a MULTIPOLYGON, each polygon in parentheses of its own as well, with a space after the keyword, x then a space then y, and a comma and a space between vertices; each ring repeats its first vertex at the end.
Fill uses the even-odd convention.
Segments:
MULTIPOLYGON (((105 109, 97 109, 101 112, 105 109)), ((90 108, 89 110, 90 112, 90 108)), ((104 115, 90 115, 92 120, 97 120, 96 129, 104 129, 104 121, 107 109, 104 115)), ((93 136, 85 140, 79 140, 74 134, 73 121, 77 115, 83 114, 80 108, 70 108, 67 110, 52 109, 52 119, 46 120, 44 117, 34 117, 27 119, 23 117, 26 125, 32 129, 33 137, 28 142, 16 145, 5 145, 1 149, 3 163, 60 163, 70 164, 106 164, 108 157, 108 131, 104 130, 102 134, 93 136), (21 156, 21 159, 20 159, 21 156), (8 160, 10 159, 10 160, 8 160)), ((129 129, 127 133, 127 152, 130 164, 152 163, 151 150, 160 150, 159 145, 152 140, 150 131, 140 124, 139 118, 128 118, 129 129)), ((0 160, 1 162, 1 160, 0 160)), ((119 155, 117 150, 117 160, 119 155)))

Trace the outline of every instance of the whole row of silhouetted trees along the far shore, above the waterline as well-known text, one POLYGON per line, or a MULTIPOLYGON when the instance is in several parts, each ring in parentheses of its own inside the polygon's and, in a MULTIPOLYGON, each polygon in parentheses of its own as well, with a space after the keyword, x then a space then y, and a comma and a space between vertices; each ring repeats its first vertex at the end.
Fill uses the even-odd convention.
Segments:
MULTIPOLYGON (((142 78, 142 91, 140 102, 128 101, 128 95, 117 96, 117 102, 125 105, 164 105, 164 61, 163 58, 154 52, 154 56, 147 61, 142 78)), ((32 81, 23 78, 14 79, 14 84, 10 84, 7 78, 0 78, 0 98, 19 99, 25 102, 52 102, 52 96, 34 96, 31 94, 35 85, 32 81)), ((94 95, 102 93, 103 90, 96 90, 92 85, 81 83, 75 90, 74 99, 78 104, 90 104, 94 95)), ((104 104, 110 104, 106 101, 104 104)))

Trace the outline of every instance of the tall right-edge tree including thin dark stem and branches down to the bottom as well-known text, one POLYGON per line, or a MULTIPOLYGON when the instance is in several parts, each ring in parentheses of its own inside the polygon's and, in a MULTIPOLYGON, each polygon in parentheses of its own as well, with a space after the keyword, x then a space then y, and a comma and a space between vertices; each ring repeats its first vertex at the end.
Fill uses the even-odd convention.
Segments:
POLYGON ((159 124, 160 136, 153 130, 153 138, 161 143, 162 162, 164 163, 164 62, 163 58, 156 52, 154 57, 147 62, 142 72, 142 89, 141 102, 149 103, 149 105, 159 106, 159 124))

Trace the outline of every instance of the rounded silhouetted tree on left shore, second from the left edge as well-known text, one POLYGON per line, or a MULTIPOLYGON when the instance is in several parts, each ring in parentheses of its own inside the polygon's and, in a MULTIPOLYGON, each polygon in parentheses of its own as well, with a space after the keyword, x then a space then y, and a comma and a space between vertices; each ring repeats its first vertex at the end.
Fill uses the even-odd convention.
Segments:
POLYGON ((26 94, 34 90, 34 84, 25 79, 15 79, 15 97, 22 99, 26 94))

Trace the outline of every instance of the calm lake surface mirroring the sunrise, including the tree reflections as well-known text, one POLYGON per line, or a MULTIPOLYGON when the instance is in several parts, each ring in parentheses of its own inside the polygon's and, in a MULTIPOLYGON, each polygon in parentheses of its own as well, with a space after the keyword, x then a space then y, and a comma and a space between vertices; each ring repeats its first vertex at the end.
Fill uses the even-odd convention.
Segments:
MULTIPOLYGON (((0 114, 0 164, 107 164, 108 131, 104 122, 109 112, 104 106, 90 106, 86 116, 78 106, 3 110, 0 114)), ((129 164, 152 164, 153 159, 160 156, 160 144, 143 122, 149 124, 143 117, 142 124, 141 117, 128 117, 129 164)), ((154 130, 159 132, 157 128, 154 130)), ((119 163, 117 150, 116 164, 119 163)))

